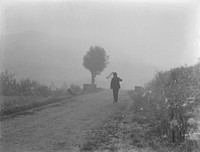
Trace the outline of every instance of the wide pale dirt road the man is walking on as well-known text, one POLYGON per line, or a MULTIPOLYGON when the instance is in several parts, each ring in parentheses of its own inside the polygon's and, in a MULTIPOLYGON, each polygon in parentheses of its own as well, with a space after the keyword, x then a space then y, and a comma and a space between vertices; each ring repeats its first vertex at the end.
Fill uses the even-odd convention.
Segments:
POLYGON ((79 151, 87 132, 120 106, 129 107, 126 91, 113 103, 111 90, 85 94, 1 121, 1 152, 79 151))

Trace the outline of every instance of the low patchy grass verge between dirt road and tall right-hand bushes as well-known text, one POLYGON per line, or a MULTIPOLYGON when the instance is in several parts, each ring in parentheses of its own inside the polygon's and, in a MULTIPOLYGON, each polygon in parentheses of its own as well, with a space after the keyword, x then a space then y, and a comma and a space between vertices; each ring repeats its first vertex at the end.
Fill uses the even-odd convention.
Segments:
MULTIPOLYGON (((145 103, 143 103, 145 104, 145 103)), ((118 111, 101 126, 92 130, 82 152, 197 152, 194 143, 183 143, 181 147, 170 145, 160 138, 150 119, 148 111, 136 102, 126 111, 118 111), (184 150, 183 150, 184 149, 184 150)))

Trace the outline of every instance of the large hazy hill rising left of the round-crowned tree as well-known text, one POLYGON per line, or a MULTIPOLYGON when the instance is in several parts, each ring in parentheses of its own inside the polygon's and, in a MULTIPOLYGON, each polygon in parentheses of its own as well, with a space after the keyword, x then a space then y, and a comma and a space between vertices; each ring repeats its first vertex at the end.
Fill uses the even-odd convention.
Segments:
POLYGON ((24 31, 3 35, 0 41, 4 50, 3 68, 16 73, 19 78, 31 77, 42 81, 70 80, 75 78, 72 71, 82 69, 84 72, 84 42, 79 40, 37 31, 24 31))

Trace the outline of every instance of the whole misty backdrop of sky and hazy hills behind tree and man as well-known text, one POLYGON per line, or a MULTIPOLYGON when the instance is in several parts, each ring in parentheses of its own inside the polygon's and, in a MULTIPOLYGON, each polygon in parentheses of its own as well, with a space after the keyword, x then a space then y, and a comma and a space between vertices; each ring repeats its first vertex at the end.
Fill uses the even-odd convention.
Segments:
POLYGON ((115 71, 123 89, 144 85, 158 70, 193 65, 199 52, 199 3, 138 1, 14 1, 1 11, 1 70, 61 86, 90 83, 83 56, 103 47, 109 87, 115 71))

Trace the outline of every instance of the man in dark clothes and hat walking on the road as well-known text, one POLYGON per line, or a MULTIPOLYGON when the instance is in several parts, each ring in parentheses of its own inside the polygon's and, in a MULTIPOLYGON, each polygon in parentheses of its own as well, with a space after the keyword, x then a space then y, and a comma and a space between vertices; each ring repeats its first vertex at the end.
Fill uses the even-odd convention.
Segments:
POLYGON ((113 78, 111 80, 110 83, 110 89, 113 90, 113 98, 114 98, 114 102, 118 101, 118 92, 120 89, 120 81, 122 81, 122 79, 120 79, 119 77, 117 77, 117 73, 113 72, 113 78))

